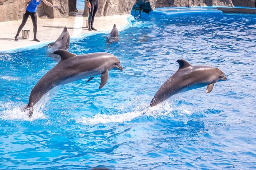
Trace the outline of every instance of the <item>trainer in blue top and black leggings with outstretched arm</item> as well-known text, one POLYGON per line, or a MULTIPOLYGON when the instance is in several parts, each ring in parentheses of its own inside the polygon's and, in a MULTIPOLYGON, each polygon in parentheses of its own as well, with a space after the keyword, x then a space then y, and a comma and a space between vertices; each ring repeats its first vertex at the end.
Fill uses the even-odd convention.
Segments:
POLYGON ((20 27, 17 31, 17 34, 15 36, 15 40, 18 40, 20 31, 22 30, 22 28, 25 26, 26 21, 28 20, 29 16, 31 16, 31 20, 34 26, 34 41, 40 42, 37 38, 36 38, 36 32, 37 32, 37 15, 36 15, 36 9, 38 7, 38 5, 40 5, 41 1, 43 1, 47 6, 50 6, 52 8, 60 8, 59 6, 54 6, 51 3, 47 2, 47 0, 26 0, 25 4, 24 4, 24 10, 23 10, 23 19, 22 19, 22 23, 20 24, 20 27), (30 2, 30 3, 29 3, 30 2), (29 3, 29 5, 27 6, 27 4, 29 3))

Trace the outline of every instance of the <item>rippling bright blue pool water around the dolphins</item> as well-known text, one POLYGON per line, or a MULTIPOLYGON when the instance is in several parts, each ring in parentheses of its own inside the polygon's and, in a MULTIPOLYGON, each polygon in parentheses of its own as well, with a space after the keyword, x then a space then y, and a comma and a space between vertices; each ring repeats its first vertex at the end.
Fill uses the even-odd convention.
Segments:
POLYGON ((57 64, 46 48, 0 53, 0 169, 115 170, 256 168, 256 17, 220 13, 138 15, 119 32, 72 40, 74 54, 121 60, 100 77, 60 86, 21 111, 57 64), (177 59, 220 68, 228 78, 148 108, 177 59))

